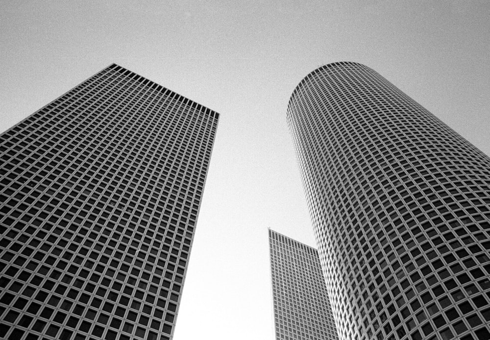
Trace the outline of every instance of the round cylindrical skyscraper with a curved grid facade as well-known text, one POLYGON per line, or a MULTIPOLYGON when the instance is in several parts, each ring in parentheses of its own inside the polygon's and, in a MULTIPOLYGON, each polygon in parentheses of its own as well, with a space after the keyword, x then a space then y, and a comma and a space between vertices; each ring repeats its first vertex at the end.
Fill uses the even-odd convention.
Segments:
POLYGON ((287 118, 340 339, 490 339, 489 157, 352 62, 287 118))

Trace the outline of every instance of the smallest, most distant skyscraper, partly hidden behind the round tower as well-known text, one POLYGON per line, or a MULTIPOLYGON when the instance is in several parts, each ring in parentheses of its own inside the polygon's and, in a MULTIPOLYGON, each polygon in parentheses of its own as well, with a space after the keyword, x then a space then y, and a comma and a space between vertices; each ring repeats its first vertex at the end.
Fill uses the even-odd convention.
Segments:
POLYGON ((337 340, 318 251, 269 229, 276 340, 337 340))

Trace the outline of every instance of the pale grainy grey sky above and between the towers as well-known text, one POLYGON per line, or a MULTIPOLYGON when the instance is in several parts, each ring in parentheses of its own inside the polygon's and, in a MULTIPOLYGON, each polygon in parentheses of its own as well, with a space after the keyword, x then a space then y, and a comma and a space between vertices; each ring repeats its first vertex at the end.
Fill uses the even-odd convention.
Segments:
POLYGON ((486 0, 1 1, 0 131, 112 62, 221 113, 175 340, 273 339, 267 228, 315 245, 286 107, 363 63, 490 154, 486 0))

